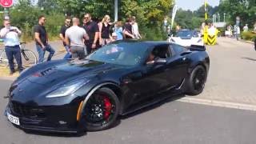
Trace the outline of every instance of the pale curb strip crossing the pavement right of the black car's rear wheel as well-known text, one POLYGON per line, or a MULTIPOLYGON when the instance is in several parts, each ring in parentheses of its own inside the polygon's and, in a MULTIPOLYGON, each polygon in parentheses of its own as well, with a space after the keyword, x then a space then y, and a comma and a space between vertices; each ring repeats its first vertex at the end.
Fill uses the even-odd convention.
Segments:
POLYGON ((232 108, 232 109, 238 109, 238 110, 256 111, 256 106, 254 105, 242 104, 242 103, 236 103, 236 102, 222 102, 222 101, 215 101, 215 100, 202 99, 202 98, 185 97, 185 98, 178 99, 178 102, 189 102, 189 103, 202 104, 207 106, 218 106, 218 107, 226 107, 226 108, 232 108))

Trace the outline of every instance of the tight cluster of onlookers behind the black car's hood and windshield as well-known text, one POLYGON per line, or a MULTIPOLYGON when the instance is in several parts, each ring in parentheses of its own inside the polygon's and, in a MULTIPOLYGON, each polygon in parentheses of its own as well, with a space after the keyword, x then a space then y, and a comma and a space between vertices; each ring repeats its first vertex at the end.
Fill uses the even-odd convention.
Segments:
POLYGON ((66 48, 64 58, 82 59, 110 42, 142 38, 135 17, 127 18, 123 25, 121 21, 110 22, 109 15, 105 15, 101 22, 94 22, 90 14, 84 14, 82 26, 79 22, 79 18, 66 18, 62 26, 60 38, 66 48))

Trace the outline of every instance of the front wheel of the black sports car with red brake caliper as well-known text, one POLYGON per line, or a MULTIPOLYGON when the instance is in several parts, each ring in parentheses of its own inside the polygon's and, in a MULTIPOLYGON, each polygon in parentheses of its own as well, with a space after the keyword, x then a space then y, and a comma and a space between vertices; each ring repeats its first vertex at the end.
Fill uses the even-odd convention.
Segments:
POLYGON ((87 131, 110 129, 118 118, 120 102, 113 90, 100 88, 86 102, 81 122, 87 131))

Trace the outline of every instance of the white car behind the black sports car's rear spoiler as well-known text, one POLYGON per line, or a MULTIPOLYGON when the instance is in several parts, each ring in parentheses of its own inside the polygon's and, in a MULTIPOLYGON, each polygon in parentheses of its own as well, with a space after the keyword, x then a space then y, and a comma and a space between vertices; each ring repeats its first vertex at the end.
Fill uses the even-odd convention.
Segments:
POLYGON ((176 34, 171 34, 167 41, 180 46, 204 46, 203 39, 195 30, 178 30, 176 34))

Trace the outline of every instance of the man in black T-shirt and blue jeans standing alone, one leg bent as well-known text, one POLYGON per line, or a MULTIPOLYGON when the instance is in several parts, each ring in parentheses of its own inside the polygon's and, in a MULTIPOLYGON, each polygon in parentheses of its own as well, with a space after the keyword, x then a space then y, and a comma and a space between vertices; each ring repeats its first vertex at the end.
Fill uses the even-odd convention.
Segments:
POLYGON ((35 45, 38 50, 39 63, 43 62, 46 51, 50 54, 48 55, 47 61, 50 61, 54 56, 55 50, 48 44, 48 35, 46 33, 46 18, 41 15, 38 18, 38 25, 34 26, 34 39, 35 45))

